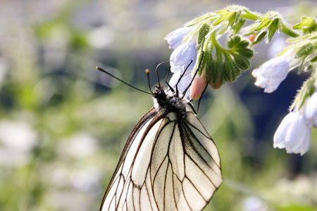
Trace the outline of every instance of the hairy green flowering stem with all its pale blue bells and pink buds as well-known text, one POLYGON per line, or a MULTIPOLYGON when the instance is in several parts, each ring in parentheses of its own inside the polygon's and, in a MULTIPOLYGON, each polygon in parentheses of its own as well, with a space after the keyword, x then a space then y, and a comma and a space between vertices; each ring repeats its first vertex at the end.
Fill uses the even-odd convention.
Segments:
POLYGON ((317 127, 317 24, 314 18, 302 18, 293 27, 287 26, 280 13, 270 11, 265 15, 252 13, 242 6, 228 6, 216 13, 206 13, 190 21, 185 27, 170 32, 166 40, 173 53, 170 55, 170 85, 185 93, 185 97, 199 99, 208 84, 218 89, 225 82, 235 82, 243 70, 248 70, 254 56, 252 46, 263 38, 273 40, 282 32, 292 39, 282 38, 282 53, 252 71, 254 83, 272 93, 280 86, 290 70, 313 70, 311 77, 295 97, 292 110, 280 123, 274 136, 275 148, 285 148, 287 153, 309 150, 311 128, 317 127), (244 27, 246 20, 254 24, 244 27), (228 34, 225 45, 218 38, 228 34), (246 39, 246 35, 254 36, 246 39), (194 74, 197 75, 193 78, 194 74))

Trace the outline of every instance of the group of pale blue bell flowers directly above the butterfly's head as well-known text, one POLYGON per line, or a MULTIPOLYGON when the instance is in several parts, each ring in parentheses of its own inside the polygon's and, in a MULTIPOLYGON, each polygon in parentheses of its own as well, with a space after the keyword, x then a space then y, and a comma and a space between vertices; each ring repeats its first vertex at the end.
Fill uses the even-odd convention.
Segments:
MULTIPOLYGON (((182 27, 166 36, 170 48, 175 49, 170 55, 170 71, 174 73, 170 79, 170 86, 175 88, 178 79, 186 71, 182 79, 180 79, 180 83, 178 83, 180 93, 184 92, 191 82, 191 73, 197 59, 197 37, 189 37, 187 41, 182 42, 191 30, 192 27, 182 27)), ((189 94, 190 87, 185 96, 189 98, 189 94)))

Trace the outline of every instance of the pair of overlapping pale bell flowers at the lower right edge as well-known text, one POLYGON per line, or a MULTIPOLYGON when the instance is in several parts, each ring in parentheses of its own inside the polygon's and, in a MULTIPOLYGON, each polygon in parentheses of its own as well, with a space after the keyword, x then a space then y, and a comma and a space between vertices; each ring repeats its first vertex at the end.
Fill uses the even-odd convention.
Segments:
POLYGON ((317 92, 309 98, 304 108, 284 117, 274 135, 274 148, 285 148, 287 153, 304 155, 309 151, 311 127, 317 127, 317 92))

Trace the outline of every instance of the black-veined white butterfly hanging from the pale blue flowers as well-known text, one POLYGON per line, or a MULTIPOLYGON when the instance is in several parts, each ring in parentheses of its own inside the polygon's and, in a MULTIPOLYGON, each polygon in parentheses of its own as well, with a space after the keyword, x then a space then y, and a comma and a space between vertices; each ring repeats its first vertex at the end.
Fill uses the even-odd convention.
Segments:
POLYGON ((150 89, 154 107, 125 143, 101 211, 202 210, 223 183, 216 145, 184 97, 190 84, 168 87, 150 89))

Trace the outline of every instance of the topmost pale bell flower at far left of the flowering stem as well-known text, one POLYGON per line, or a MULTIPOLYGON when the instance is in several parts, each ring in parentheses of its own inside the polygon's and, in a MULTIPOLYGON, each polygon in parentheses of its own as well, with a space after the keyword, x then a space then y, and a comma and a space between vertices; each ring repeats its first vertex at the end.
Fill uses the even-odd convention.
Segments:
POLYGON ((170 45, 170 49, 176 49, 182 44, 184 37, 192 30, 193 27, 180 27, 166 35, 165 39, 170 45))

